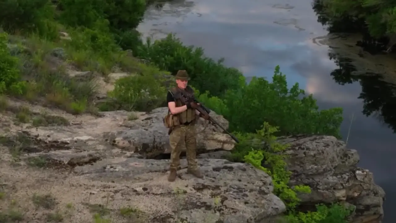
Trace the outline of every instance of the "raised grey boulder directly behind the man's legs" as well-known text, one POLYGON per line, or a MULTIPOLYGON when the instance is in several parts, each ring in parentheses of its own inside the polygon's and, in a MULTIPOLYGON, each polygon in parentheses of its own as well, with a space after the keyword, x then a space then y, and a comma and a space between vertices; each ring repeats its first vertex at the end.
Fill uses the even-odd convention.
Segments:
MULTIPOLYGON (((167 113, 166 107, 156 108, 138 119, 124 122, 123 125, 129 127, 128 130, 110 133, 106 137, 111 139, 112 144, 118 148, 134 151, 144 158, 170 154, 168 129, 162 122, 167 113)), ((222 115, 211 112, 211 117, 226 129, 228 128, 228 121, 222 115)), ((208 121, 198 120, 197 133, 197 154, 234 148, 234 140, 208 121)))

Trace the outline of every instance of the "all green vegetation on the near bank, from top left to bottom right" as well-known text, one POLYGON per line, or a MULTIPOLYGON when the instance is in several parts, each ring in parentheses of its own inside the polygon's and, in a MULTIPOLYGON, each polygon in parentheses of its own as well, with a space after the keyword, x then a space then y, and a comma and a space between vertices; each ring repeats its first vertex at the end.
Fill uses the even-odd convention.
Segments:
POLYGON ((341 138, 343 110, 319 110, 314 97, 306 95, 298 83, 288 89, 279 66, 272 81, 254 77, 247 84, 237 69, 205 57, 202 48, 184 46, 173 35, 143 41, 135 28, 146 10, 145 0, 4 0, 0 6, 8 9, 0 15, 3 95, 76 115, 117 109, 147 111, 166 106, 164 83, 185 69, 199 100, 223 115, 241 140, 230 160, 251 163, 272 177, 274 194, 288 209, 286 222, 347 222, 352 210, 341 204, 318 204, 315 212, 296 211, 297 194, 309 193, 310 188, 288 186, 290 173, 282 154, 287 145, 276 142, 276 137, 341 138), (107 101, 99 104, 95 80, 109 81, 110 73, 131 75, 118 79, 107 101), (254 141, 266 141, 268 146, 254 141), (263 160, 268 168, 261 165, 263 160))

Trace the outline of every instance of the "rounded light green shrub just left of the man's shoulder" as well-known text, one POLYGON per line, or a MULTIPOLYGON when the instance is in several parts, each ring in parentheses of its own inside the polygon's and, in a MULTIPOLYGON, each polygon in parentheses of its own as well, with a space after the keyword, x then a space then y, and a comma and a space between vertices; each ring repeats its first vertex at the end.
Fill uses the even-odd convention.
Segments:
POLYGON ((149 111, 166 102, 166 89, 152 74, 120 78, 109 95, 127 111, 149 111))

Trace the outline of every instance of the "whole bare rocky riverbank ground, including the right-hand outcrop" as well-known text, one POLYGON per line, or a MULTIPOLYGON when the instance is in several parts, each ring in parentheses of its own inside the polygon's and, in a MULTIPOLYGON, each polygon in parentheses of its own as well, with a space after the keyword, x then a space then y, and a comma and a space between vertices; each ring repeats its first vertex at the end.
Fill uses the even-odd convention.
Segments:
MULTIPOLYGON (((270 135, 261 136, 269 148, 256 145, 260 149, 246 157, 248 163, 230 162, 227 150, 232 150, 233 140, 201 120, 197 161, 204 179, 186 173, 183 158, 179 178, 169 183, 169 161, 151 159, 169 155, 168 130, 160 122, 166 107, 148 113, 100 112, 98 117, 75 116, 12 98, 2 98, 5 104, 0 114, 2 222, 247 223, 284 219, 282 222, 300 223, 301 218, 308 218, 326 223, 344 222, 348 212, 343 206, 351 205, 356 206, 353 218, 358 222, 381 219, 383 191, 373 183, 369 171, 356 167, 356 150, 345 148, 344 142, 332 136, 287 137, 281 139, 282 144, 272 141, 270 135), (33 120, 42 121, 16 119, 15 111, 20 108, 29 111, 33 120), (223 150, 216 151, 220 146, 223 150), (285 218, 286 205, 290 210, 299 201, 279 181, 289 176, 280 168, 286 157, 271 154, 282 148, 289 154, 287 169, 292 172, 293 190, 307 192, 299 185, 312 185, 311 193, 303 193, 299 210, 314 211, 314 204, 334 199, 343 206, 319 206, 317 212, 289 213, 285 218), (263 156, 272 158, 266 168, 257 163, 263 156), (275 177, 267 174, 269 170, 275 177), (339 186, 334 188, 329 181, 339 186), (288 201, 286 205, 274 193, 288 201)), ((212 112, 212 117, 228 127, 221 115, 212 112)), ((266 127, 268 133, 275 130, 266 127)))

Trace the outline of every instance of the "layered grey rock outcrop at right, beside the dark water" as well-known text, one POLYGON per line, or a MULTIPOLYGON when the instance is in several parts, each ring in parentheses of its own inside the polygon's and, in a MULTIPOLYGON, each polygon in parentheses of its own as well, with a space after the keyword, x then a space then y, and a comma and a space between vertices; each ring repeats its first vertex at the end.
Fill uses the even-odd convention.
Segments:
POLYGON ((344 202, 356 206, 352 222, 376 223, 383 218, 384 190, 374 183, 373 173, 357 167, 359 155, 333 136, 283 138, 291 185, 309 185, 311 194, 301 194, 302 206, 344 202))

